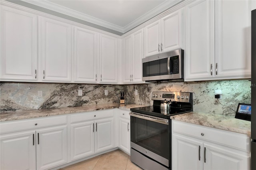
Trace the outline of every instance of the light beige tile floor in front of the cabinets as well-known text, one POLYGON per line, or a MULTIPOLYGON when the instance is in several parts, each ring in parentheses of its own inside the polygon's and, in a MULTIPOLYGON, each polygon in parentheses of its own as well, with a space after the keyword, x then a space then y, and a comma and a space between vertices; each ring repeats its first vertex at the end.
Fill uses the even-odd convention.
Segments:
POLYGON ((130 156, 117 149, 94 158, 66 166, 60 170, 142 170, 130 161, 130 156))

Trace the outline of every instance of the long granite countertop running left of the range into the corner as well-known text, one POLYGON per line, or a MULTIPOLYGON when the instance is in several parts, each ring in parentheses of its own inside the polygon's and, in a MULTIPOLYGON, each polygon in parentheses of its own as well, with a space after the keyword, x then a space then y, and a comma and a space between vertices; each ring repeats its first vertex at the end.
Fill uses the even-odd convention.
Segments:
POLYGON ((89 111, 98 111, 106 109, 123 109, 130 111, 130 108, 144 107, 148 105, 125 105, 118 103, 98 104, 98 105, 86 105, 82 107, 63 107, 58 109, 40 109, 40 110, 20 110, 20 111, 6 111, 0 113, 0 122, 3 121, 14 121, 20 119, 30 119, 37 117, 47 117, 56 115, 65 115, 72 113, 82 113, 89 111))

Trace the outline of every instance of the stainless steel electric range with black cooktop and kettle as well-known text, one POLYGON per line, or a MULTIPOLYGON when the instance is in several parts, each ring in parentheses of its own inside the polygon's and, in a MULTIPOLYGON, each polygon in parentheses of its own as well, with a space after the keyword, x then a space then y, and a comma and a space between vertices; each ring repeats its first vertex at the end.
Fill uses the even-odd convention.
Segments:
POLYGON ((171 169, 170 117, 193 111, 190 92, 153 92, 153 106, 131 109, 131 161, 145 170, 171 169))

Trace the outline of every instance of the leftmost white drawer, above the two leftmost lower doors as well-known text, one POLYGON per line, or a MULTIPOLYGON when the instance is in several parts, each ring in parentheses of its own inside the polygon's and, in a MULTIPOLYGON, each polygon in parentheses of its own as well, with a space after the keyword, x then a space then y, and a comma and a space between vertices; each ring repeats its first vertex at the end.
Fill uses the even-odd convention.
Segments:
POLYGON ((33 128, 50 127, 56 125, 64 125, 67 123, 67 116, 56 116, 37 119, 24 119, 19 121, 6 121, 0 123, 1 132, 15 132, 21 130, 28 130, 33 128))

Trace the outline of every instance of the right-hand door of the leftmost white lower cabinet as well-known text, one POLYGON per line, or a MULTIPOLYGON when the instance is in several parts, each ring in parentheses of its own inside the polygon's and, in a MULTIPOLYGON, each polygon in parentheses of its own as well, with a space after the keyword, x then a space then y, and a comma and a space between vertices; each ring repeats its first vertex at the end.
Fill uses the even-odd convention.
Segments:
POLYGON ((36 169, 45 170, 68 163, 67 126, 36 131, 36 169))

